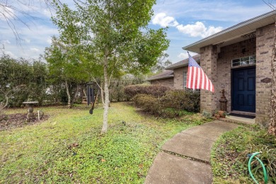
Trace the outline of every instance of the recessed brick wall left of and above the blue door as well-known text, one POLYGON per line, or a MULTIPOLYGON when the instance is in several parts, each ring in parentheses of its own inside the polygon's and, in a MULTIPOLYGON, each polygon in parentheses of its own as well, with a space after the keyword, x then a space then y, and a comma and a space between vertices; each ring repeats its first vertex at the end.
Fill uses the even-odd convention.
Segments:
POLYGON ((228 100, 227 110, 231 111, 231 60, 255 55, 255 42, 255 38, 252 38, 220 48, 217 59, 217 109, 219 109, 219 99, 222 96, 219 91, 224 89, 226 91, 226 99, 228 100))

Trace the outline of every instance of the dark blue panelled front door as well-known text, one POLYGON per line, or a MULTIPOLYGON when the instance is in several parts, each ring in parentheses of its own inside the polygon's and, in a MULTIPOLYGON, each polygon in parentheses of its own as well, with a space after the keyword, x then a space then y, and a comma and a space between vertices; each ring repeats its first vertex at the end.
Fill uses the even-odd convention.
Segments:
POLYGON ((232 71, 232 110, 255 113, 255 67, 232 71))

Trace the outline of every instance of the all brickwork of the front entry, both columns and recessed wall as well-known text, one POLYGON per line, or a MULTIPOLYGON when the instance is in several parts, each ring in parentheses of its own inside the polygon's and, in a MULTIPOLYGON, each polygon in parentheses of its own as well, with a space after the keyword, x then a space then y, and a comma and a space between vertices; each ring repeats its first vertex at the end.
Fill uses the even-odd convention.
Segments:
MULTIPOLYGON (((274 42, 274 24, 258 28, 255 32, 256 38, 237 42, 220 48, 216 61, 216 52, 213 46, 202 47, 201 67, 212 80, 215 93, 209 91, 201 92, 201 111, 219 109, 219 91, 226 91, 228 100, 227 110, 231 110, 231 60, 256 55, 256 119, 264 127, 268 126, 270 105, 270 83, 261 82, 262 79, 271 78, 271 59, 274 42), (217 66, 216 66, 217 64, 217 66)), ((249 65, 247 67, 250 67, 249 65)))

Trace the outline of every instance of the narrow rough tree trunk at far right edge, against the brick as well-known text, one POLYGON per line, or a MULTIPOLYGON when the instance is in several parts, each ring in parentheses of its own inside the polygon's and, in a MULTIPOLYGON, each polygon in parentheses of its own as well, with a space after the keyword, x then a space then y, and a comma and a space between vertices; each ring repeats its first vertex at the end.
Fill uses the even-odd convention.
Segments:
POLYGON ((271 100, 270 100, 270 123, 268 133, 276 135, 276 22, 274 36, 274 50, 271 61, 271 100))

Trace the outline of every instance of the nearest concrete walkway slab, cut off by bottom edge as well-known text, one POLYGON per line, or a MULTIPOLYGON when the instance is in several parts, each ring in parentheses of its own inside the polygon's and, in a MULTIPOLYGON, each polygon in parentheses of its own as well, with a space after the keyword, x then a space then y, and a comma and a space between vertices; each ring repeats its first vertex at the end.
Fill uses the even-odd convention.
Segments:
POLYGON ((160 152, 149 169, 145 183, 212 183, 211 166, 160 152))

